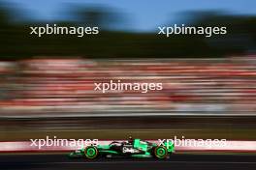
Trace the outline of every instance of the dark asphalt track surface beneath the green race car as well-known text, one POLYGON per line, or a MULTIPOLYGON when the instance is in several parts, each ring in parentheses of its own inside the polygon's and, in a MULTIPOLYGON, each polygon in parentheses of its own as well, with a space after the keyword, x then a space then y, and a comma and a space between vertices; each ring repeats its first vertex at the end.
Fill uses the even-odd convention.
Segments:
POLYGON ((256 169, 256 155, 188 155, 176 154, 169 159, 154 158, 99 158, 86 160, 84 158, 70 159, 63 155, 0 155, 0 169, 64 169, 64 170, 247 170, 256 169))

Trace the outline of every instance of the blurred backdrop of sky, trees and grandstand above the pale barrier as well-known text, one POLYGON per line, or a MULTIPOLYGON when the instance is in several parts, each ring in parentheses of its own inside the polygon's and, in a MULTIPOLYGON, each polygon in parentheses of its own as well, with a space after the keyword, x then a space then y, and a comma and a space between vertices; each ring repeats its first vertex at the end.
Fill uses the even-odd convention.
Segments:
POLYGON ((256 3, 0 1, 0 140, 255 139, 256 3), (30 26, 99 26, 94 36, 30 26), (227 35, 157 35, 158 26, 226 26, 227 35), (106 93, 94 82, 161 82, 106 93))

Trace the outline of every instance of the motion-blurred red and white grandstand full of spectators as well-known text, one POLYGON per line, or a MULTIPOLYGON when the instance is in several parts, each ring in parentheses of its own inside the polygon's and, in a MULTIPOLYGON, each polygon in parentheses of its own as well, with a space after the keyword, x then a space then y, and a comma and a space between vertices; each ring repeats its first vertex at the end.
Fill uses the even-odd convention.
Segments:
POLYGON ((1 117, 255 115, 256 58, 1 62, 1 117), (161 82, 103 94, 95 82, 161 82))

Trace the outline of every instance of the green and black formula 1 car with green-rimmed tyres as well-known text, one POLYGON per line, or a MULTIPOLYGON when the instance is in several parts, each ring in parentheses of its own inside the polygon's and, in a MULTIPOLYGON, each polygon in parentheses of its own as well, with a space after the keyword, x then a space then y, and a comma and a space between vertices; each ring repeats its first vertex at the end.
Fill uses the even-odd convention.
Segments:
POLYGON ((87 146, 71 153, 70 157, 86 157, 88 159, 98 156, 130 156, 130 157, 156 157, 166 158, 175 152, 172 142, 161 145, 141 139, 129 139, 125 142, 113 141, 109 145, 87 146))

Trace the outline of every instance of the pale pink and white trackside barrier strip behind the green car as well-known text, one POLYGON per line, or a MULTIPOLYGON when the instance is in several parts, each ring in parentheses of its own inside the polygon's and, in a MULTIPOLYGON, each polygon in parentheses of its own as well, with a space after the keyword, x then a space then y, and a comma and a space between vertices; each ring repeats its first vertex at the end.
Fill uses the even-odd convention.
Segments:
MULTIPOLYGON (((118 140, 120 141, 120 140, 118 140)), ((159 143, 157 140, 147 140, 159 143)), ((99 145, 108 145, 112 141, 99 141, 99 145)), ((79 146, 38 146, 32 145, 30 141, 0 142, 0 153, 47 153, 47 152, 68 152, 80 149, 79 146)), ((225 146, 208 147, 198 146, 176 146, 176 152, 226 152, 226 153, 256 153, 256 141, 226 141, 225 146)))

